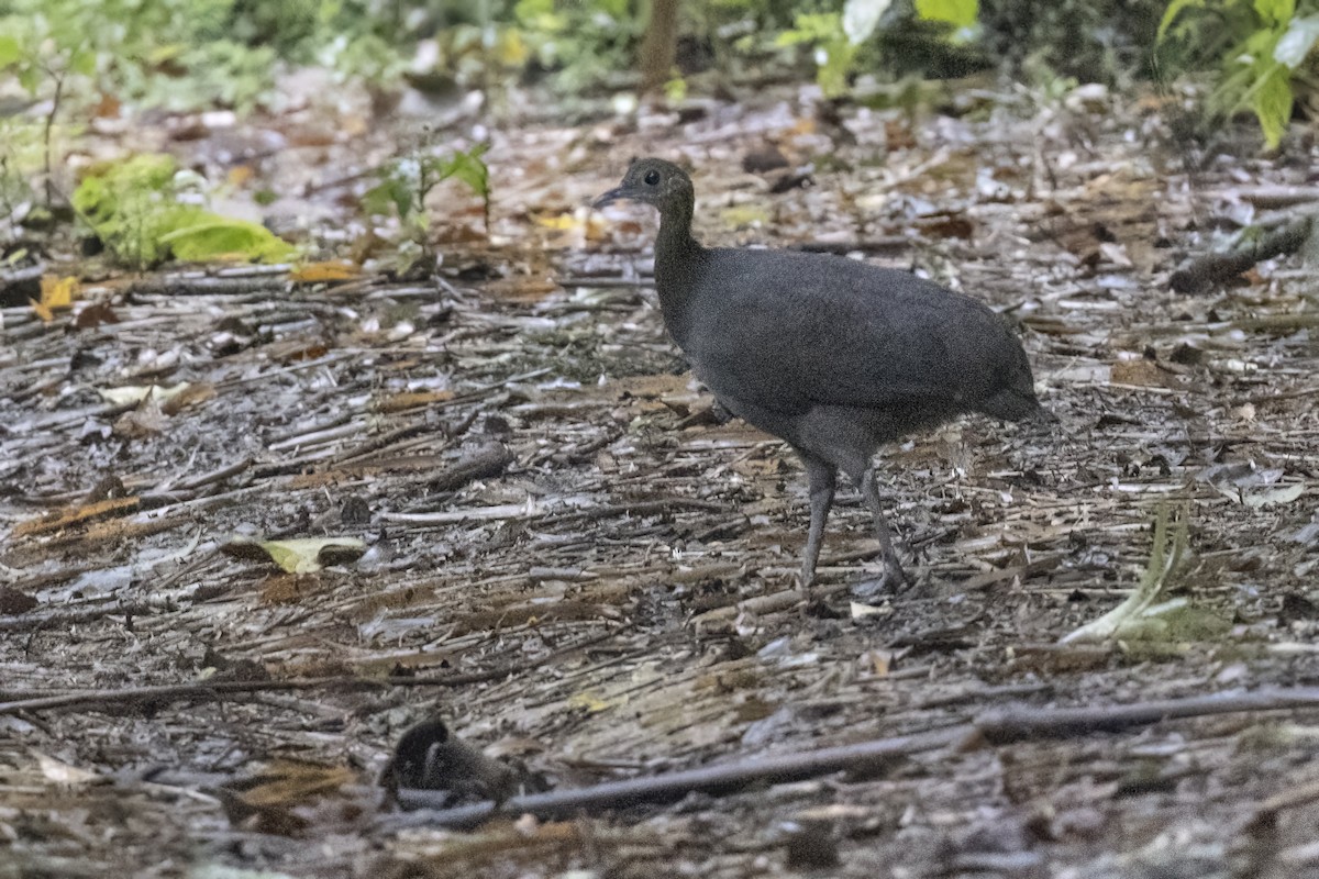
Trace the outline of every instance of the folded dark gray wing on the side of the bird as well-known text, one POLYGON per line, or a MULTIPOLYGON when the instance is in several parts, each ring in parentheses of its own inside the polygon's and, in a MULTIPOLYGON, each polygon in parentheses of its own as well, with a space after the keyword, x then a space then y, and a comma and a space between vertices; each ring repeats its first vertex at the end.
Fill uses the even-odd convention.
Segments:
POLYGON ((969 409, 1005 383, 992 373, 1016 340, 975 300, 901 271, 791 257, 766 260, 757 290, 715 275, 721 294, 706 299, 690 353, 719 395, 777 411, 969 409))

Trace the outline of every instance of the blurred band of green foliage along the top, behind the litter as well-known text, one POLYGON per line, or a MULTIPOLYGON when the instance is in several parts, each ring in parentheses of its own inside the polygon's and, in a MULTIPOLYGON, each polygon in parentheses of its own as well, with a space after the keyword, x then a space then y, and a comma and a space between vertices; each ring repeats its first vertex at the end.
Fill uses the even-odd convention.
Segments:
MULTIPOLYGON (((32 195, 29 178, 91 108, 251 112, 277 104, 282 67, 321 65, 384 88, 404 78, 559 98, 632 87, 652 1, 0 0, 0 208, 32 195), (423 40, 434 69, 410 70, 423 40), (26 109, 46 105, 41 130, 26 109)), ((711 88, 766 69, 814 75, 831 98, 859 72, 998 67, 1050 94, 1191 75, 1211 84, 1202 130, 1250 112, 1277 146, 1319 82, 1319 0, 686 0, 679 11, 675 98, 689 79, 708 74, 711 88)), ((390 179, 398 215, 415 215, 390 179)), ((484 198, 488 181, 472 186, 484 198)))

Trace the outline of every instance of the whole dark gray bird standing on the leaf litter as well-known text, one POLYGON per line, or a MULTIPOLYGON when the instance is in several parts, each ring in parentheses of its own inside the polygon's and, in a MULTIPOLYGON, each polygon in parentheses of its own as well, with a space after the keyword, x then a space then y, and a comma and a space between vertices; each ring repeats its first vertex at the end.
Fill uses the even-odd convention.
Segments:
POLYGON ((962 412, 1039 414, 1021 341, 983 302, 905 271, 818 253, 703 248, 691 237, 691 178, 673 162, 634 161, 595 207, 621 199, 660 210, 660 308, 696 377, 806 464, 802 586, 815 579, 839 470, 874 517, 888 576, 906 580, 874 452, 962 412))

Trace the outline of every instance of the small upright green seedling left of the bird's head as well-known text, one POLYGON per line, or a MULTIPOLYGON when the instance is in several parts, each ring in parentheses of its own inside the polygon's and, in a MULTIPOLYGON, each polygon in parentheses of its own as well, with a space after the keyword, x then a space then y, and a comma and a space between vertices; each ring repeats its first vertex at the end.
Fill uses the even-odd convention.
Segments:
POLYGON ((443 181, 462 181, 481 199, 485 231, 491 223, 489 169, 481 158, 488 146, 437 154, 427 134, 423 142, 380 169, 380 183, 367 191, 363 207, 376 215, 396 212, 408 237, 429 253, 430 212, 426 196, 443 181))

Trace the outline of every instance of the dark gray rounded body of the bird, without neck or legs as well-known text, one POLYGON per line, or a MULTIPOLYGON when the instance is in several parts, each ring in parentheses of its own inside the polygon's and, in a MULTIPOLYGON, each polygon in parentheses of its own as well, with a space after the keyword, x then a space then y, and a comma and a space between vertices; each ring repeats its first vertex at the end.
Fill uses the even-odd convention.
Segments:
POLYGON ((909 273, 823 254, 710 249, 657 281, 663 300, 681 303, 665 308, 670 332, 735 411, 739 402, 787 415, 845 406, 942 420, 1038 410, 1030 364, 1005 322, 909 273), (665 295, 675 286, 685 290, 665 295))

